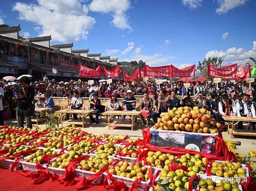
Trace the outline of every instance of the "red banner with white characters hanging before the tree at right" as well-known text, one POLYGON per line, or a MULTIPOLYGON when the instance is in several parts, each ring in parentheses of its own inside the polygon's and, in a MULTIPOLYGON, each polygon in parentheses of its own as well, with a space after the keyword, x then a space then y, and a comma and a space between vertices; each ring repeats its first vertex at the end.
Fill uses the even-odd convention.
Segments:
POLYGON ((212 77, 224 77, 226 79, 236 79, 237 64, 225 66, 221 68, 215 68, 211 64, 208 64, 207 75, 212 77))

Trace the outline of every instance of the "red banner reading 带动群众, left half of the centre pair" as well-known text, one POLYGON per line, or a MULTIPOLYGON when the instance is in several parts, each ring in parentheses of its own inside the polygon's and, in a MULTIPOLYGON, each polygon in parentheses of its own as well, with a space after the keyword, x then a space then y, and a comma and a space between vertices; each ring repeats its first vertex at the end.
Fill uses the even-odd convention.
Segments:
POLYGON ((144 65, 144 75, 146 77, 169 77, 170 66, 150 67, 144 65))

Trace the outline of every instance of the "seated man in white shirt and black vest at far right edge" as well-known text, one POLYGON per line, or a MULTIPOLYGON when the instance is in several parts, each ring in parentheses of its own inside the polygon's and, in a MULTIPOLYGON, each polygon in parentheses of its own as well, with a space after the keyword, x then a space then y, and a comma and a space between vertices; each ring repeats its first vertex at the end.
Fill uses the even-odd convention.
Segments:
MULTIPOLYGON (((237 102, 237 116, 238 117, 241 117, 241 116, 246 117, 248 113, 252 113, 252 117, 256 117, 255 116, 254 105, 249 100, 250 95, 243 94, 242 98, 243 98, 242 100, 237 102)), ((252 125, 254 127, 255 123, 251 123, 250 125, 252 125)), ((238 128, 243 129, 243 122, 242 121, 240 121, 238 123, 238 128)))

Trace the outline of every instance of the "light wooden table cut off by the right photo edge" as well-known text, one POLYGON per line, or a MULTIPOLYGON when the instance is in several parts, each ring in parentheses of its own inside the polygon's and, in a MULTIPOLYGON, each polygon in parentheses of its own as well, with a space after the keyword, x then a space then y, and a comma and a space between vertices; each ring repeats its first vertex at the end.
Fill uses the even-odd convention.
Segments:
MULTIPOLYGON (((246 117, 223 117, 222 118, 228 122, 228 134, 231 133, 231 138, 233 138, 233 135, 243 135, 243 136, 256 136, 256 133, 250 133, 250 132, 234 132, 233 126, 237 125, 240 121, 243 122, 256 122, 256 118, 247 119, 246 117), (229 125, 231 124, 231 129, 229 128, 229 125)), ((242 129, 241 129, 242 130, 242 129)))

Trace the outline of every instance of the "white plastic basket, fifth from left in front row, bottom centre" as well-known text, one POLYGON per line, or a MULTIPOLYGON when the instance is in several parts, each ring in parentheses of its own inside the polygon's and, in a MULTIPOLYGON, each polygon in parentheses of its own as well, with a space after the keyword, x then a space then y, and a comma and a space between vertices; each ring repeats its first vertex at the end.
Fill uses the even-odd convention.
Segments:
MULTIPOLYGON (((150 169, 150 166, 142 166, 142 167, 146 167, 147 169, 150 169)), ((155 168, 155 172, 153 173, 153 176, 156 174, 156 172, 158 171, 158 168, 155 168)), ((106 172, 104 172, 105 175, 107 175, 106 172)), ((126 177, 122 177, 122 176, 117 176, 117 175, 112 175, 114 180, 118 180, 118 181, 122 181, 123 183, 125 183, 125 185, 130 188, 133 184, 133 182, 135 181, 132 178, 126 178, 126 177)), ((110 185, 112 183, 111 180, 108 180, 108 184, 110 185)), ((138 184, 136 185, 136 188, 138 190, 141 191, 145 191, 147 190, 147 186, 150 183, 150 178, 147 181, 138 181, 138 184)))

